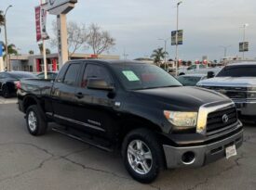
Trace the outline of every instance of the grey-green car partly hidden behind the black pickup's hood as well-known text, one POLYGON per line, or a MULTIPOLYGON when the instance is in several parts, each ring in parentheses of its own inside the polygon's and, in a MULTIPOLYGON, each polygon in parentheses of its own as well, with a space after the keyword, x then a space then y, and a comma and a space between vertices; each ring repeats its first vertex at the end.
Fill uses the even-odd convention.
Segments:
POLYGON ((183 86, 195 86, 197 82, 208 79, 206 74, 186 74, 177 77, 183 86))

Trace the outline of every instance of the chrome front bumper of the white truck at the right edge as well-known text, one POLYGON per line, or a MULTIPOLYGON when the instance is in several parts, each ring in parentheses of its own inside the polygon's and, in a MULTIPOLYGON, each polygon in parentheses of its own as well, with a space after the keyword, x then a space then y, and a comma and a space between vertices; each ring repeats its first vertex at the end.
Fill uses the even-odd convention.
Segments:
POLYGON ((242 116, 256 116, 256 100, 233 99, 233 101, 242 116))

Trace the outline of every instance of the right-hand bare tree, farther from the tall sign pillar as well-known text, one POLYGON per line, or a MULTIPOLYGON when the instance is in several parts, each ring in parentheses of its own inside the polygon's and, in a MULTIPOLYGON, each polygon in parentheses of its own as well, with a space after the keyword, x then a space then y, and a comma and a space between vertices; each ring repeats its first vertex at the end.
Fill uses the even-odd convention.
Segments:
POLYGON ((97 24, 91 24, 88 30, 88 46, 95 55, 101 55, 115 46, 115 39, 107 31, 102 31, 97 24))

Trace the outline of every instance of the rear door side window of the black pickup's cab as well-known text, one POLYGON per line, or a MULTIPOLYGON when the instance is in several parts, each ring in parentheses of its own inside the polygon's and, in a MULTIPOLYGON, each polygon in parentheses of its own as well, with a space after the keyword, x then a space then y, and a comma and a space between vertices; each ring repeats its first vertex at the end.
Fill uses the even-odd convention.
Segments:
POLYGON ((63 83, 68 85, 74 85, 76 82, 77 75, 79 73, 80 64, 71 64, 65 74, 63 83))

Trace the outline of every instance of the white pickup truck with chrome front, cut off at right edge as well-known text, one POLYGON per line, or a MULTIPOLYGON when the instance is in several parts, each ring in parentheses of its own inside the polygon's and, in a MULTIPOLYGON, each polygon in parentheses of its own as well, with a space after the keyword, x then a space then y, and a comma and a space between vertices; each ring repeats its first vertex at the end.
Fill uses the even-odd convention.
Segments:
POLYGON ((229 64, 216 77, 197 85, 230 97, 241 119, 256 122, 256 62, 229 64))

